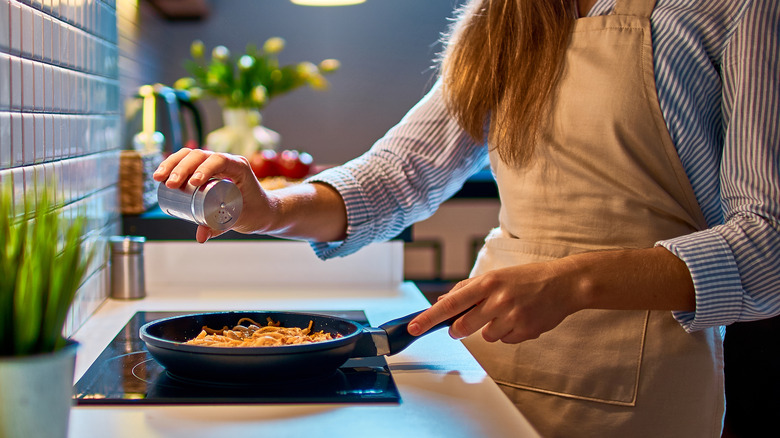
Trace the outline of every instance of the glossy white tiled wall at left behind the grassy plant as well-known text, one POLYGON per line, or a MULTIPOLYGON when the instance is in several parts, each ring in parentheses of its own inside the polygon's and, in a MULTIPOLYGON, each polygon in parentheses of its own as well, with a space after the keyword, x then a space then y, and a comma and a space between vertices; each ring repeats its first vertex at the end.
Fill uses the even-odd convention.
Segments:
POLYGON ((119 230, 116 8, 115 0, 0 0, 0 179, 13 184, 17 212, 23 193, 56 181, 63 215, 85 211, 96 248, 68 332, 107 295, 105 237, 119 230))

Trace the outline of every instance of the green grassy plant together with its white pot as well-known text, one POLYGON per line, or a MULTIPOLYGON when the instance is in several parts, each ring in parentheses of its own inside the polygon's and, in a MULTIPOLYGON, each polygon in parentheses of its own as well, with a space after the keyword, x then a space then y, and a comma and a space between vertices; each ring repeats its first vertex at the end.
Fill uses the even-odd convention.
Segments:
POLYGON ((64 218, 51 193, 26 194, 16 214, 0 183, 2 437, 67 436, 78 345, 63 328, 91 253, 84 215, 64 218))

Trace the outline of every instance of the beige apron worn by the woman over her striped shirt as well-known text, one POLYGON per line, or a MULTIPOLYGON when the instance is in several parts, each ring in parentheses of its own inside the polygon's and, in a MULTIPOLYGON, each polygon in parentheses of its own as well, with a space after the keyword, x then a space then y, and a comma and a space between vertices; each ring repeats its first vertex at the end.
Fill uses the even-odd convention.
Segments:
MULTIPOLYGON (((655 91, 654 4, 577 20, 533 162, 491 153, 500 227, 472 276, 705 228, 655 91)), ((586 310, 519 345, 464 343, 543 436, 720 436, 720 332, 688 334, 671 312, 586 310)))

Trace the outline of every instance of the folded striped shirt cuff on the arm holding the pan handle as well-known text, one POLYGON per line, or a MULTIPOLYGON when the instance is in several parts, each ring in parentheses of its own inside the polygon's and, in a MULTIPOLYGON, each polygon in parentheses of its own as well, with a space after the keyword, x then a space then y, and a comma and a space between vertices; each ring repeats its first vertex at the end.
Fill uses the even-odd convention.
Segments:
POLYGON ((696 310, 672 312, 687 332, 729 325, 742 313, 743 288, 731 247, 712 229, 656 242, 688 266, 696 310))

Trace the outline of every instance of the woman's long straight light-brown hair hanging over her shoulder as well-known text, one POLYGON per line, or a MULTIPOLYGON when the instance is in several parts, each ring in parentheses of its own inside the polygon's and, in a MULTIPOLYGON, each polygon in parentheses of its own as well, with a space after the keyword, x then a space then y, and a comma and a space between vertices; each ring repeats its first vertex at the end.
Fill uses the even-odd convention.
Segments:
POLYGON ((475 140, 522 166, 558 82, 575 18, 572 0, 470 0, 441 58, 450 113, 475 140))

